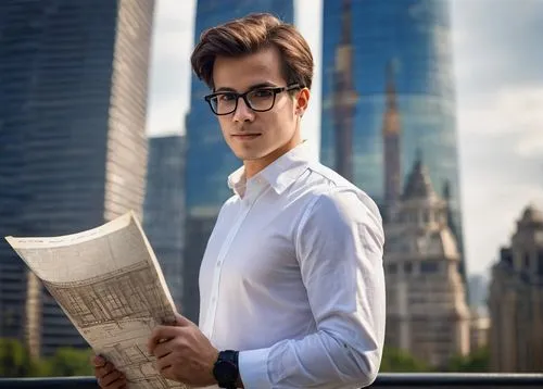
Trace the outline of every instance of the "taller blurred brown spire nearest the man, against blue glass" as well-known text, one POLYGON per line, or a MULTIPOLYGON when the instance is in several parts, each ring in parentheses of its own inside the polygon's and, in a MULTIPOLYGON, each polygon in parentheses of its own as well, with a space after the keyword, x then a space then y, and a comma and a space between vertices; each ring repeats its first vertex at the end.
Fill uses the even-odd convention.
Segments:
POLYGON ((357 101, 353 79, 351 0, 343 0, 341 41, 336 50, 333 77, 333 121, 336 131, 336 172, 353 179, 353 125, 357 101))

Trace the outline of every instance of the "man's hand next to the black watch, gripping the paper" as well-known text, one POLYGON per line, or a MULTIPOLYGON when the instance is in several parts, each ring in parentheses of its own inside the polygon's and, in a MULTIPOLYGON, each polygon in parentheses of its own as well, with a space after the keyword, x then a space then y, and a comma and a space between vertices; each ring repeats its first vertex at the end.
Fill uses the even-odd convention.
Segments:
POLYGON ((166 378, 190 386, 217 384, 213 366, 218 350, 186 317, 176 314, 176 323, 157 326, 149 339, 149 352, 156 356, 156 369, 166 378))

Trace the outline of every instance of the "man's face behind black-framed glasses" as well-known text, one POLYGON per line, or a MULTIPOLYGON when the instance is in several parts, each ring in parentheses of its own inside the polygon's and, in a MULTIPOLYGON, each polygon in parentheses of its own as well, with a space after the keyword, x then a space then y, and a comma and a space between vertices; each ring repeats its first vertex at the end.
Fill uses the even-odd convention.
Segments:
MULTIPOLYGON (((244 93, 253 89, 287 86, 281 73, 280 53, 276 48, 266 48, 240 58, 217 57, 213 66, 213 81, 215 92, 244 93)), ((254 101, 258 101, 258 96, 266 95, 266 89, 262 90, 263 93, 253 96, 254 101)), ((307 103, 307 96, 308 91, 300 93, 299 89, 279 92, 273 109, 267 112, 251 110, 240 98, 235 112, 217 116, 223 136, 236 156, 243 161, 255 161, 274 153, 280 155, 280 150, 288 151, 298 145, 298 121, 307 103), (303 97, 300 98, 300 95, 303 97)), ((227 100, 225 98, 223 101, 227 100)))

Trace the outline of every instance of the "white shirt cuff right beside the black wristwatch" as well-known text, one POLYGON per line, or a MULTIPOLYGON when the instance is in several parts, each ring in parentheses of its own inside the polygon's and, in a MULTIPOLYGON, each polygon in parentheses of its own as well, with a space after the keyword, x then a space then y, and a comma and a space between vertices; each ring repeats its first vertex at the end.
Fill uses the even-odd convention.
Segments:
POLYGON ((272 389, 268 376, 269 349, 240 351, 239 375, 245 389, 272 389))

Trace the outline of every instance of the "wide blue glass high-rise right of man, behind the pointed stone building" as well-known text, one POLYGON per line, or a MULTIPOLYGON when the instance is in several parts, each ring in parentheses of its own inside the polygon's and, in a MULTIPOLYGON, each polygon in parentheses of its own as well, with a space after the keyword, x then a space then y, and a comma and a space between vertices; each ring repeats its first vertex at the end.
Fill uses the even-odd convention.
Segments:
POLYGON ((324 0, 320 160, 388 217, 421 153, 462 253, 450 29, 446 0, 324 0))

